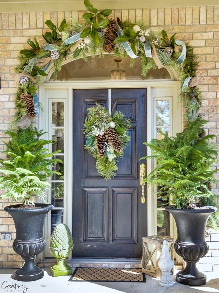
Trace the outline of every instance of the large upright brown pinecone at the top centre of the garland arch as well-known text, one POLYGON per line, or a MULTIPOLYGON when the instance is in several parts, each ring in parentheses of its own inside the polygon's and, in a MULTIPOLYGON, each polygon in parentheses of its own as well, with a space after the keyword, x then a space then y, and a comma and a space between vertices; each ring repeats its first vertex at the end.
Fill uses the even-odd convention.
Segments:
POLYGON ((105 42, 103 44, 103 50, 107 53, 113 52, 116 46, 116 44, 114 43, 114 40, 117 37, 117 33, 116 33, 117 30, 118 30, 118 25, 115 19, 111 18, 107 26, 105 42))

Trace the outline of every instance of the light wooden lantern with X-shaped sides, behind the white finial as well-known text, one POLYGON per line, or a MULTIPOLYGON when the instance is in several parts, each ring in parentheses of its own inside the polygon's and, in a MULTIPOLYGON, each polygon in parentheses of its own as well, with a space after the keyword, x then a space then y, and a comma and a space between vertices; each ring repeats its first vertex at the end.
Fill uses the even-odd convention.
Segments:
MULTIPOLYGON (((161 245, 164 239, 166 239, 169 248, 169 254, 171 259, 173 259, 173 241, 174 239, 169 236, 147 236, 142 238, 143 243, 143 253, 141 260, 142 272, 155 278, 160 278, 161 270, 158 266, 158 261, 161 254, 161 245)), ((173 269, 171 270, 173 274, 173 269)))

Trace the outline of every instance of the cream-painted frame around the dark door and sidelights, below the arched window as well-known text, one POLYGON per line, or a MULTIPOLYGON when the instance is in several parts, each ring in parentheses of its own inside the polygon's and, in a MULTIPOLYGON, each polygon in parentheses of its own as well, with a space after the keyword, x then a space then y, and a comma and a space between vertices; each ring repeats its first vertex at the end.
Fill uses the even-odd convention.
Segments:
MULTIPOLYGON (((71 82, 50 82, 44 83, 39 86, 39 102, 44 107, 44 113, 39 113, 39 129, 48 131, 48 93, 49 97, 58 99, 64 98, 66 100, 66 121, 72 121, 72 90, 73 89, 92 89, 92 88, 146 88, 147 89, 147 141, 150 142, 154 138, 154 93, 156 89, 162 91, 162 89, 171 89, 172 93, 172 135, 182 131, 182 107, 178 103, 178 94, 180 91, 180 81, 167 81, 167 80, 127 80, 127 81, 71 81, 71 82), (59 94, 62 93, 62 96, 59 94), (63 96, 63 93, 65 93, 63 96), (67 115, 66 115, 67 114, 67 115)), ((157 95, 156 95, 157 96, 157 95)), ((160 95, 160 97, 164 97, 160 95)), ((58 100, 57 100, 58 101, 58 100)), ((47 134, 50 135, 49 133, 47 134)), ((68 161, 72 162, 72 123, 66 123, 65 137, 65 156, 68 161)), ((45 137, 48 139, 47 137, 45 137)), ((147 154, 151 154, 151 150, 147 149, 147 154)), ((147 174, 149 174, 154 168, 154 162, 148 161, 147 174)), ((67 192, 65 192, 65 208, 64 211, 64 223, 69 226, 72 231, 72 164, 65 166, 65 176, 67 176, 67 192)), ((156 197, 154 196, 154 189, 151 186, 147 186, 147 231, 148 235, 155 235, 157 233, 157 213, 156 210, 156 197)), ((50 226, 50 217, 46 217, 46 224, 44 225, 44 237, 49 240, 48 227, 50 226), (49 219, 49 221, 47 220, 49 219), (46 236, 47 235, 47 236, 46 236)), ((171 219, 171 231, 173 231, 173 219, 171 219)), ((175 234, 175 233, 174 233, 175 234)), ((174 235, 171 235, 174 236, 174 235)), ((44 252, 38 255, 37 261, 42 262, 44 259, 44 252)), ((69 258, 71 259, 71 258, 69 258)))

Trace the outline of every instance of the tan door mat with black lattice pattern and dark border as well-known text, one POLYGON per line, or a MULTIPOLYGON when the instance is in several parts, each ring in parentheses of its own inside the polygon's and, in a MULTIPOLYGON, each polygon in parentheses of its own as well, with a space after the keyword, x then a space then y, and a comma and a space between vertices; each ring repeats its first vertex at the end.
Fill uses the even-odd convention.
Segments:
POLYGON ((146 282, 141 269, 76 268, 69 281, 79 282, 146 282))

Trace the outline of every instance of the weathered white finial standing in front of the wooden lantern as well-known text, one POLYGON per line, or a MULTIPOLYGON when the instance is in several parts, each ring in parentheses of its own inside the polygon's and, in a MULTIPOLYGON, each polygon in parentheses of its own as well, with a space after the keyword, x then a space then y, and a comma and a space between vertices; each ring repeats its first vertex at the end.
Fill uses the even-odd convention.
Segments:
POLYGON ((170 271, 173 268, 173 261, 169 256, 169 248, 167 245, 168 243, 166 239, 164 239, 163 248, 161 249, 162 255, 158 262, 158 266, 161 269, 159 285, 162 287, 173 287, 174 283, 170 276, 170 271))

